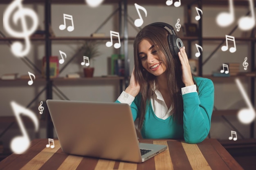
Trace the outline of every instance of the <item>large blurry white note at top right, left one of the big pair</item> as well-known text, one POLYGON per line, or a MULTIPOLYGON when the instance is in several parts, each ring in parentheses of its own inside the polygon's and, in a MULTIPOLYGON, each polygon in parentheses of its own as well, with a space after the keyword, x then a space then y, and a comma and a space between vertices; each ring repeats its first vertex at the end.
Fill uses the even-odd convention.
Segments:
POLYGON ((229 26, 234 22, 235 19, 235 14, 234 14, 234 4, 233 0, 229 0, 229 12, 222 12, 219 13, 216 22, 219 26, 229 26))

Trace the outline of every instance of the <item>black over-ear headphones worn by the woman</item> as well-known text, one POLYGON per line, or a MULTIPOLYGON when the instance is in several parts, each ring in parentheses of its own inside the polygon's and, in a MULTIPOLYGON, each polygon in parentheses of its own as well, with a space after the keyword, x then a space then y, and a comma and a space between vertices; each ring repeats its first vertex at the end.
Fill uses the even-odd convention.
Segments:
POLYGON ((182 40, 175 34, 175 30, 173 26, 165 22, 154 22, 152 24, 149 24, 148 26, 159 26, 162 28, 166 26, 168 29, 171 30, 172 34, 168 33, 168 36, 167 36, 168 45, 169 45, 171 54, 174 57, 178 57, 178 52, 180 51, 180 48, 182 48, 184 45, 182 40))

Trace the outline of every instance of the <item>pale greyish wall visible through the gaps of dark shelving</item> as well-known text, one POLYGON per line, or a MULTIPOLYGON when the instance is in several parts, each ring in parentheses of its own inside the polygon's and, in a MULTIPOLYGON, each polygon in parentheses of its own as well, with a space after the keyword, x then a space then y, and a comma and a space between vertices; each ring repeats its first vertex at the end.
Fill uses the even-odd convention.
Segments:
MULTIPOLYGON (((25 5, 26 7, 34 8, 39 16, 40 27, 44 29, 44 7, 43 5, 25 5)), ((6 9, 7 5, 0 5, 1 14, 6 9)), ((146 8, 148 15, 145 18, 144 13, 141 11, 141 15, 144 18, 145 26, 152 22, 167 22, 173 26, 175 26, 177 19, 180 18, 180 24, 184 24, 184 9, 183 7, 173 7, 173 6, 149 6, 144 5, 146 8)), ((84 37, 90 36, 98 26, 117 8, 116 5, 102 5, 97 8, 89 8, 85 4, 79 5, 52 5, 52 28, 57 37, 59 36, 77 36, 84 37), (63 13, 70 14, 74 18, 74 31, 68 32, 66 30, 59 30, 58 26, 63 23, 63 13)), ((197 23, 194 17, 197 15, 195 8, 192 7, 192 22, 197 23)), ((236 7, 236 22, 227 28, 220 28, 216 24, 216 16, 221 11, 227 11, 227 7, 203 7, 203 36, 204 37, 225 37, 225 34, 228 34, 231 29, 237 23, 238 18, 247 13, 247 7, 236 7)), ((118 15, 118 13, 117 13, 118 15)), ((102 27, 99 32, 105 33, 106 36, 110 35, 110 30, 118 31, 118 16, 111 18, 109 22, 105 26, 102 27)), ((138 18, 137 11, 133 5, 128 6, 128 15, 132 17, 134 20, 138 18)), ((6 34, 7 32, 3 29, 2 22, 0 22, 0 30, 6 34)), ((128 26, 129 36, 135 37, 137 34, 137 30, 129 24, 128 26)), ((182 36, 181 31, 178 33, 182 36)), ((239 29, 235 31, 233 36, 242 37, 243 35, 249 36, 250 31, 242 32, 239 29)), ((107 65, 107 57, 110 57, 113 53, 117 53, 117 51, 110 47, 105 46, 106 41, 101 41, 99 45, 99 50, 101 55, 95 59, 95 73, 94 76, 106 75, 108 71, 107 65)), ((133 47, 132 41, 129 41, 129 58, 130 58, 130 71, 133 68, 133 47)), ((186 42, 184 42, 186 45, 186 42)), ((195 41, 194 43, 198 43, 195 41)), ((218 46, 220 41, 204 41, 203 42, 203 60, 205 60, 209 54, 218 46)), ((65 51, 68 57, 71 57, 76 52, 76 49, 81 45, 81 41, 68 41, 68 42, 60 42, 53 41, 52 43, 52 55, 59 56, 59 50, 65 51)), ((222 66, 222 63, 225 62, 239 62, 241 63, 240 71, 243 70, 243 60, 245 57, 248 57, 248 63, 250 63, 250 47, 247 42, 239 42, 236 41, 237 51, 235 53, 229 53, 229 51, 223 52, 220 49, 217 53, 211 58, 209 62, 207 62, 203 66, 204 75, 209 75, 212 71, 218 71, 222 66)), ((32 49, 27 55, 27 57, 40 68, 41 60, 45 55, 44 50, 44 42, 36 41, 32 42, 32 49)), ((122 48, 122 47, 121 47, 122 48)), ((197 52, 195 46, 192 43, 192 53, 190 54, 192 58, 194 57, 194 53, 197 52)), ((28 71, 31 73, 36 73, 33 69, 28 68, 24 62, 22 62, 19 58, 14 57, 10 52, 10 49, 6 42, 0 42, 0 75, 4 73, 19 73, 20 75, 27 74, 28 71)), ((76 60, 72 62, 63 73, 61 73, 61 77, 65 76, 69 72, 81 72, 82 68, 79 65, 81 61, 76 60)), ((250 70, 250 64, 248 70, 250 70)), ((246 83, 246 79, 243 80, 246 83)), ((119 84, 118 82, 105 82, 105 81, 97 81, 97 82, 72 82, 72 83, 55 83, 63 93, 71 100, 81 100, 81 101, 104 101, 104 102, 113 102, 117 99, 119 95, 119 84)), ((215 84, 215 106, 218 109, 239 109, 242 107, 246 107, 245 102, 240 94, 240 91, 236 87, 235 82, 228 83, 218 83, 215 84)), ((0 116, 12 116, 13 112, 11 110, 10 101, 15 100, 19 104, 23 106, 27 106, 27 104, 34 98, 36 94, 45 86, 44 82, 37 82, 33 84, 33 86, 28 86, 27 82, 1 82, 0 84, 0 116)), ((244 84, 247 89, 247 84, 244 84)), ((59 97, 54 94, 54 99, 59 99, 59 97)), ((34 113, 38 114, 38 105, 40 101, 45 100, 45 93, 40 95, 36 103, 31 105, 31 109, 34 110, 34 113)), ((240 132, 244 135, 244 137, 249 137, 249 128, 243 124, 240 124, 236 116, 229 116, 229 120, 234 123, 240 132)), ((7 127, 8 124, 2 124, 0 126, 1 131, 7 127)), ((32 127, 33 128, 33 127, 32 127)), ((220 117, 212 118, 212 126, 211 126, 211 137, 218 139, 228 139, 230 135, 230 130, 233 130, 230 126, 223 121, 220 117)), ((30 130, 33 131, 33 130, 30 130)), ((19 134, 20 132, 16 132, 19 134)), ((33 133, 32 133, 33 134, 33 133)), ((13 133, 11 131, 7 132, 2 139, 5 142, 5 146, 7 146, 8 141, 13 137, 13 133)), ((38 137, 45 138, 45 129, 42 128, 38 137)), ((31 135, 33 138, 33 135, 31 135)), ((238 139, 240 137, 238 136, 238 139)))

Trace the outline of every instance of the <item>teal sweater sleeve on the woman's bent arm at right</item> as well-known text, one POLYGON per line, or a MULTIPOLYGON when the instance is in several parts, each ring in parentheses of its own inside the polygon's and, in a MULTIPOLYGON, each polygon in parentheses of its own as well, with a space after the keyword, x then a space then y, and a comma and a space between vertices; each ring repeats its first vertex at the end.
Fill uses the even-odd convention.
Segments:
POLYGON ((210 79, 199 78, 198 93, 187 93, 183 97, 183 129, 187 143, 202 142, 209 134, 214 104, 214 86, 210 79))

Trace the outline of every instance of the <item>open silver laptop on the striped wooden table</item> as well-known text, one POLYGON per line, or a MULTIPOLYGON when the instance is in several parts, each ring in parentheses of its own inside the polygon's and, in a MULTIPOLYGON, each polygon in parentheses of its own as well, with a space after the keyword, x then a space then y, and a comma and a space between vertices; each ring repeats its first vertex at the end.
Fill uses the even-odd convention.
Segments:
POLYGON ((67 154, 140 163, 167 148, 138 142, 128 104, 65 100, 46 103, 61 148, 67 154))

